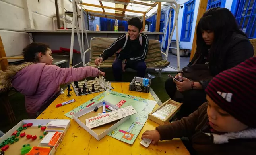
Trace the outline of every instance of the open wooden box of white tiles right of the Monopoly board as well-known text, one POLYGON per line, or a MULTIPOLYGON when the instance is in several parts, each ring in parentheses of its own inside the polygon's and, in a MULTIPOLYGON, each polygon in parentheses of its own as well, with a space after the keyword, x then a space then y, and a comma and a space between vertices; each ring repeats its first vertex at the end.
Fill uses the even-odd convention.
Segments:
POLYGON ((158 123, 159 125, 164 125, 169 123, 170 119, 180 110, 182 103, 171 100, 171 98, 165 101, 157 109, 153 110, 148 115, 148 119, 158 123))

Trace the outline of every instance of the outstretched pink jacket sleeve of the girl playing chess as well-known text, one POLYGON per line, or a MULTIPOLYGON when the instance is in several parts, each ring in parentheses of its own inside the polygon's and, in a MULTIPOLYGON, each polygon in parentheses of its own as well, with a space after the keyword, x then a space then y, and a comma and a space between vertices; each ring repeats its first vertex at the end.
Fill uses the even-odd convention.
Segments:
POLYGON ((78 68, 60 68, 58 66, 52 67, 52 76, 56 84, 79 81, 87 77, 96 77, 101 74, 97 68, 86 66, 78 68))

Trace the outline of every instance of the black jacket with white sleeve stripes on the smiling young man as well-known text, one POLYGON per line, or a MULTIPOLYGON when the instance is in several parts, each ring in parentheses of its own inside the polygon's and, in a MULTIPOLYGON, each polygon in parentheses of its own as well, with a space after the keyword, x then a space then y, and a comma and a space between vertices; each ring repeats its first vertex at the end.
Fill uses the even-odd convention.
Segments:
MULTIPOLYGON (((140 45, 139 37, 136 40, 131 40, 128 37, 127 43, 122 51, 120 51, 117 55, 118 59, 124 60, 126 59, 127 64, 144 61, 147 58, 147 48, 148 48, 148 38, 147 35, 141 34, 142 36, 142 45, 140 45)), ((114 53, 116 53, 119 49, 122 49, 126 40, 126 34, 118 37, 116 41, 112 43, 112 45, 105 49, 99 57, 102 57, 103 60, 107 60, 114 53)))

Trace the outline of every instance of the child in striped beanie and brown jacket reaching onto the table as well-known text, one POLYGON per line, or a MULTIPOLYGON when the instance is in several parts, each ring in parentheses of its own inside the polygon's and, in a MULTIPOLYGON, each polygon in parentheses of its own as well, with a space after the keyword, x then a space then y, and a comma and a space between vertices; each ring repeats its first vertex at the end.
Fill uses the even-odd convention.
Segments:
POLYGON ((188 137, 198 154, 256 155, 256 57, 215 76, 207 101, 181 120, 146 131, 142 139, 188 137))

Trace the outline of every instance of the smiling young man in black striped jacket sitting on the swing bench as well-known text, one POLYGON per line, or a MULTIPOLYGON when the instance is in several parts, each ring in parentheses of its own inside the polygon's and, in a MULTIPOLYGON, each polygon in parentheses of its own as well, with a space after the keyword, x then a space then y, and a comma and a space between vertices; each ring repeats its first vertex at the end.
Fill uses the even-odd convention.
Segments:
POLYGON ((147 68, 144 60, 147 57, 148 38, 147 35, 140 34, 142 30, 142 22, 138 17, 130 19, 128 21, 128 36, 123 34, 118 37, 109 48, 99 55, 95 64, 98 66, 117 53, 116 60, 112 65, 116 81, 122 80, 122 71, 125 71, 126 68, 137 70, 137 76, 144 77, 147 68))

